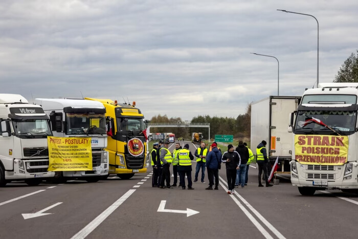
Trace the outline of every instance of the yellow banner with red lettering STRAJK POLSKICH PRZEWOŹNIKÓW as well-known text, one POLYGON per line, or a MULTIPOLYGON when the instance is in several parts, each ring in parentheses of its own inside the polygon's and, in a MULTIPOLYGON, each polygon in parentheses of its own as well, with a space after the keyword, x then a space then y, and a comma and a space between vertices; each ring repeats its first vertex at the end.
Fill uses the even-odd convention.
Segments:
POLYGON ((295 135, 295 159, 301 164, 343 165, 348 136, 295 135))

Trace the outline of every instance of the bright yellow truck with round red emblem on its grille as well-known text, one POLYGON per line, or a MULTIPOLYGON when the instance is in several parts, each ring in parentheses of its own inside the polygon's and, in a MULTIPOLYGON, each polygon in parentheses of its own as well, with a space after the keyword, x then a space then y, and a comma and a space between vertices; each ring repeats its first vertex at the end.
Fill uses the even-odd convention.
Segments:
POLYGON ((144 116, 135 102, 118 104, 117 100, 85 98, 101 102, 106 108, 107 148, 109 172, 121 179, 130 179, 135 173, 147 172, 147 140, 144 116))

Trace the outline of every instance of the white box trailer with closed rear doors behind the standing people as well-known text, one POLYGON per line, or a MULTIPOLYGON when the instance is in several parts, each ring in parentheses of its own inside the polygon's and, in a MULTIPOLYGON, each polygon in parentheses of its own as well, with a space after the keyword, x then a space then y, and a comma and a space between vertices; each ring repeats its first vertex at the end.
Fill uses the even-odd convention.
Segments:
POLYGON ((267 157, 274 164, 279 157, 276 175, 289 178, 292 159, 292 133, 287 132, 290 114, 297 110, 301 96, 269 96, 251 104, 251 149, 267 142, 267 157))

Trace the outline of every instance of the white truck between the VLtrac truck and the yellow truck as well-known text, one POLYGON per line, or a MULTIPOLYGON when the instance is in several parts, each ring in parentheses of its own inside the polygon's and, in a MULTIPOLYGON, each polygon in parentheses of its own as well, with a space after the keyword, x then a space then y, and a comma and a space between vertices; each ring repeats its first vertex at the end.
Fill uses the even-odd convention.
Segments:
POLYGON ((90 137, 92 171, 56 172, 55 179, 64 182, 70 178, 97 182, 108 176, 106 109, 102 103, 84 99, 35 99, 50 117, 55 137, 90 137))

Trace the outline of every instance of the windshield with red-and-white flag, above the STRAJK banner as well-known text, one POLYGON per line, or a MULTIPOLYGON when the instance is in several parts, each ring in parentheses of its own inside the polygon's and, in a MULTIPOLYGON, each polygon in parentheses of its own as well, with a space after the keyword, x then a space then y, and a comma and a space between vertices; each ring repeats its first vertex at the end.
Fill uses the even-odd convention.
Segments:
MULTIPOLYGON (((295 130, 310 132, 332 130, 338 133, 354 132, 356 125, 355 111, 299 111, 295 130), (331 129, 329 129, 331 128, 331 129)), ((320 132, 323 134, 323 132, 320 132)))

